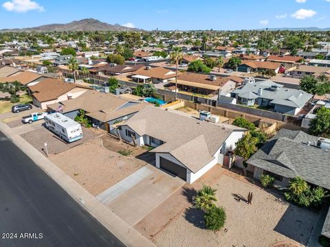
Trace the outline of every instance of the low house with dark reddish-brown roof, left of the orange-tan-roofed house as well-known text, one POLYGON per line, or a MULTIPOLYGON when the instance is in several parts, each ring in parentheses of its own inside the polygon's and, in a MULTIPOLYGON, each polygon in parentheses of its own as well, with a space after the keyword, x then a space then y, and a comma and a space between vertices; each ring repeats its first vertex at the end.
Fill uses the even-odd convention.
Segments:
POLYGON ((133 71, 137 71, 137 69, 144 68, 143 64, 137 65, 117 65, 111 66, 110 64, 94 67, 93 69, 89 69, 89 72, 97 74, 97 75, 122 75, 125 73, 131 73, 133 71))

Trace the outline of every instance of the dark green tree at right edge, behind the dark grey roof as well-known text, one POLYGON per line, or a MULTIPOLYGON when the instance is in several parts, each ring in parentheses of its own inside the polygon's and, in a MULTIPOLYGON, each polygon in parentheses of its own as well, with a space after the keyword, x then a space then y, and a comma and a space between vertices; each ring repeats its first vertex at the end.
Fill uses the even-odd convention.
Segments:
POLYGON ((330 109, 322 107, 316 113, 316 117, 311 119, 309 132, 316 136, 330 137, 330 109))

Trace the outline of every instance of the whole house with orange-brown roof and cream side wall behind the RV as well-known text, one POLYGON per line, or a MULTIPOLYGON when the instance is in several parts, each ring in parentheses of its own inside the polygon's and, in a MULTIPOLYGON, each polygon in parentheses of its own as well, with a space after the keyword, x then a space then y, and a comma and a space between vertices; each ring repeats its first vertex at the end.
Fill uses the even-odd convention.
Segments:
MULTIPOLYGON (((47 105, 75 99, 86 91, 93 90, 76 83, 65 83, 61 80, 47 78, 41 82, 28 86, 34 106, 46 109, 47 105)), ((89 102, 90 104, 90 102, 89 102)))

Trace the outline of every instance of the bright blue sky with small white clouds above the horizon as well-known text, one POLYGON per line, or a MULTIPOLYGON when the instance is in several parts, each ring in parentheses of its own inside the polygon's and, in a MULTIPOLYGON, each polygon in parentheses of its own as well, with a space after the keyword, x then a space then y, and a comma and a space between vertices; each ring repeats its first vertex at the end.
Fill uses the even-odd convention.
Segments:
POLYGON ((330 27, 330 0, 0 0, 0 4, 0 29, 85 18, 144 30, 330 27))

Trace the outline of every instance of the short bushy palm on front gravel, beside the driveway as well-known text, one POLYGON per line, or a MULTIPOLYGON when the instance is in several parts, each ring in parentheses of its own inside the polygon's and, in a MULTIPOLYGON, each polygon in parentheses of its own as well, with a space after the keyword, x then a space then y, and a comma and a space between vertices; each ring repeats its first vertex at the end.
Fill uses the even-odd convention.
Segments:
POLYGON ((196 209, 208 211, 214 206, 213 202, 217 201, 217 198, 215 197, 216 191, 217 189, 213 189, 208 185, 203 185, 203 187, 197 191, 197 195, 193 198, 194 207, 196 209))

